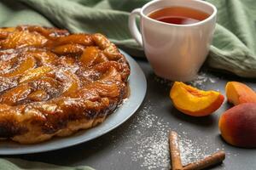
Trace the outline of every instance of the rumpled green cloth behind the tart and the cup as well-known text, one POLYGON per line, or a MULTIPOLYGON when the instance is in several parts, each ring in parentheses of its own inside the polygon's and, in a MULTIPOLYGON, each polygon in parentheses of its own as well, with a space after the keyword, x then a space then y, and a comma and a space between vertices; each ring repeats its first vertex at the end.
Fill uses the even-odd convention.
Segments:
MULTIPOLYGON (((2 0, 0 25, 38 24, 73 32, 102 32, 133 56, 143 49, 131 38, 128 16, 149 0, 2 0)), ((256 1, 207 0, 218 8, 218 25, 207 65, 256 77, 256 1)), ((193 57, 193 56, 191 56, 193 57)))

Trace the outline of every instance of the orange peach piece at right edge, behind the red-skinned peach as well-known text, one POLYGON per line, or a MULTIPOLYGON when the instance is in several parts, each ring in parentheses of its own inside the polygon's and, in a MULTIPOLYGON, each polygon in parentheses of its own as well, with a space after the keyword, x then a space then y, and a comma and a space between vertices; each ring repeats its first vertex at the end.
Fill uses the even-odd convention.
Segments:
POLYGON ((252 88, 241 82, 228 82, 226 85, 228 101, 234 105, 241 103, 256 103, 256 94, 252 88))

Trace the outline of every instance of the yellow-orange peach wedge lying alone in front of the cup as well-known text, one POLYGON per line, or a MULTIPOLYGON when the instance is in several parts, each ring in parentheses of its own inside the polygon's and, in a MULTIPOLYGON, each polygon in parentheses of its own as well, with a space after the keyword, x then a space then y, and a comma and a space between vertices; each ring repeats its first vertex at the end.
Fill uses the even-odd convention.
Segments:
POLYGON ((189 116, 207 116, 218 110, 224 96, 216 91, 203 91, 183 82, 174 82, 170 97, 178 111, 189 116))

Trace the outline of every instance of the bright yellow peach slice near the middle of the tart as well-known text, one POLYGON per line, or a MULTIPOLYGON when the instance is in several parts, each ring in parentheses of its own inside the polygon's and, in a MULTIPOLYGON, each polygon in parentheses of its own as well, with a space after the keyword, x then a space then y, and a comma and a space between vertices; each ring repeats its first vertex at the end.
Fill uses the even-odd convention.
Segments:
POLYGON ((36 69, 26 71, 26 73, 20 77, 19 82, 30 82, 37 80, 40 77, 44 77, 52 69, 49 66, 40 66, 36 69))

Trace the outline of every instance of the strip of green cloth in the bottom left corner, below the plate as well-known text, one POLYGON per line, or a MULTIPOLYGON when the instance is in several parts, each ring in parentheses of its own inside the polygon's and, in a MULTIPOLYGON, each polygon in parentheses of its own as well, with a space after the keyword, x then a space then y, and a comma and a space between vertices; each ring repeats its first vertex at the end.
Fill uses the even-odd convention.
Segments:
POLYGON ((38 161, 20 159, 0 159, 0 170, 94 170, 91 167, 62 167, 38 161))

